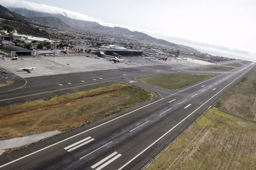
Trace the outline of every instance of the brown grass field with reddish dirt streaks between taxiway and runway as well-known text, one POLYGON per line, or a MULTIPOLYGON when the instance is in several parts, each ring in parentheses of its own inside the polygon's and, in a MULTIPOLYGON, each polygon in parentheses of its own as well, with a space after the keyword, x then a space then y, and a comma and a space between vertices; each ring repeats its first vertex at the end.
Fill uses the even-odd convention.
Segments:
POLYGON ((52 130, 66 131, 155 97, 128 84, 35 100, 0 108, 0 140, 52 130))

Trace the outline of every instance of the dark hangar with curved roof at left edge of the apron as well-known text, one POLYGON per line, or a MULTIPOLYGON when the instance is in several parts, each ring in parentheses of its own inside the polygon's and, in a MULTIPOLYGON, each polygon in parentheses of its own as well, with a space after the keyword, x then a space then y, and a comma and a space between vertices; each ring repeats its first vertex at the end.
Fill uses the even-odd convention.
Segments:
POLYGON ((22 47, 17 47, 13 45, 3 47, 1 51, 3 51, 4 53, 10 54, 11 57, 14 57, 16 55, 18 56, 29 56, 29 55, 35 56, 36 55, 35 50, 28 50, 28 49, 24 49, 22 47))

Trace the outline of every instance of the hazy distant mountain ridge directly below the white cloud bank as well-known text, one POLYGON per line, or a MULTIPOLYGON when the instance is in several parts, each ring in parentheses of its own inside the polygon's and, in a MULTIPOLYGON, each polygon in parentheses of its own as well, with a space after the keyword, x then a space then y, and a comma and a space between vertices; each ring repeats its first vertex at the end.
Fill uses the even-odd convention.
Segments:
POLYGON ((73 27, 82 27, 83 29, 98 32, 98 33, 108 33, 108 34, 112 34, 115 36, 132 38, 132 39, 137 39, 140 41, 146 40, 146 41, 151 41, 152 43, 158 43, 158 44, 165 45, 165 46, 175 47, 180 50, 189 50, 189 51, 199 52, 191 47, 174 44, 169 41, 162 40, 162 39, 156 39, 154 37, 149 36, 148 34, 141 33, 138 31, 130 31, 128 29, 121 28, 121 27, 112 28, 112 27, 102 26, 96 22, 70 19, 68 17, 63 16, 62 14, 43 13, 43 12, 28 10, 25 8, 17 8, 17 9, 9 8, 9 9, 12 11, 15 11, 19 14, 22 14, 23 16, 35 19, 36 21, 38 21, 40 23, 48 24, 51 26, 55 23, 59 24, 60 26, 63 26, 63 24, 66 24, 71 27, 72 26, 73 27), (59 21, 58 19, 61 20, 62 22, 59 21))

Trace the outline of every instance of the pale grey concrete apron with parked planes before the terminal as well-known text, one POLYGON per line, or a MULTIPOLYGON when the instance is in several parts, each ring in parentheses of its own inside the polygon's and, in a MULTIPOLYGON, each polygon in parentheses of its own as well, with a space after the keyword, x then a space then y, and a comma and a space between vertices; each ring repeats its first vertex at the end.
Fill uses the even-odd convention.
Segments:
POLYGON ((192 60, 188 58, 187 60, 148 60, 144 57, 121 57, 124 60, 128 60, 121 63, 114 63, 105 58, 92 56, 86 57, 86 55, 62 55, 62 56, 23 56, 18 60, 11 60, 7 58, 6 60, 0 60, 0 67, 4 70, 12 72, 13 74, 26 78, 26 77, 37 77, 37 76, 48 76, 56 74, 66 74, 66 73, 79 73, 85 71, 98 71, 98 70, 109 70, 109 69, 121 69, 121 68, 131 68, 139 66, 155 66, 155 65, 168 65, 174 66, 177 64, 202 64, 209 65, 212 63, 192 60), (69 65, 67 65, 69 64, 69 65), (136 64, 136 65, 128 65, 136 64), (31 73, 27 71, 22 71, 19 68, 23 67, 36 67, 31 73))

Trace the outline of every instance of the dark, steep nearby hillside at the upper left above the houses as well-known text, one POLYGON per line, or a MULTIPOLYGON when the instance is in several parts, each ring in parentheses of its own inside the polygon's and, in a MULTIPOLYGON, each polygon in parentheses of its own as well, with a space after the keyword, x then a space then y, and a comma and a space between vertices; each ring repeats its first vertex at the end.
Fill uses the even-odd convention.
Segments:
POLYGON ((14 30, 16 29, 21 34, 30 34, 33 36, 48 37, 49 34, 46 31, 40 31, 36 27, 32 26, 33 21, 29 18, 22 16, 8 10, 6 7, 0 5, 0 29, 14 30))

